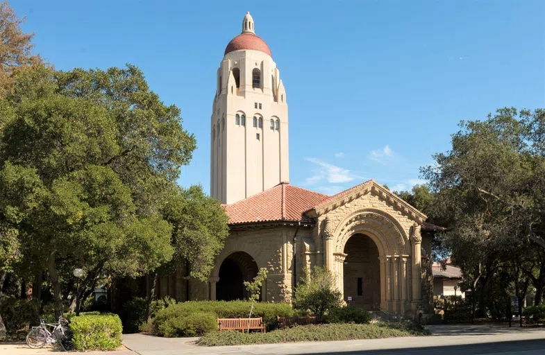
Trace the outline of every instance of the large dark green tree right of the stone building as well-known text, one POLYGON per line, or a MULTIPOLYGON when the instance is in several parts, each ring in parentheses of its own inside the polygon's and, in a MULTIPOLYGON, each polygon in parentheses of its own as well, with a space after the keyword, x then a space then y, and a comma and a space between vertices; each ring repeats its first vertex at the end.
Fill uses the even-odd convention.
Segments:
POLYGON ((462 121, 452 149, 434 159, 422 169, 435 194, 430 209, 450 223, 444 241, 472 299, 478 297, 483 311, 491 285, 507 279, 524 284, 519 268, 530 265, 539 304, 545 272, 536 269, 542 261, 515 268, 513 259, 528 257, 528 250, 545 251, 545 110, 506 107, 485 121, 462 121))

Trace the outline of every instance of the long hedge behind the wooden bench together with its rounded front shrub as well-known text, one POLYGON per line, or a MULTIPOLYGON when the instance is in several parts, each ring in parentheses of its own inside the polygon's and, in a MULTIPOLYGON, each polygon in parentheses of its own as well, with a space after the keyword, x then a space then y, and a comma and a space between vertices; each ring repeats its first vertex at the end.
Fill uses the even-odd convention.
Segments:
MULTIPOLYGON (((199 313, 207 319, 214 318, 217 329, 216 318, 247 318, 250 313, 251 302, 246 301, 190 301, 171 304, 167 308, 159 311, 153 318, 153 329, 159 336, 195 336, 201 331, 210 329, 206 322, 202 324, 198 318, 188 318, 194 313, 199 313), (190 322, 187 327, 183 322, 190 322), (192 329, 196 329, 193 331, 192 329)), ((290 317, 293 315, 293 309, 287 303, 266 303, 257 302, 253 305, 252 317, 262 317, 264 322, 274 324, 276 316, 290 317)))

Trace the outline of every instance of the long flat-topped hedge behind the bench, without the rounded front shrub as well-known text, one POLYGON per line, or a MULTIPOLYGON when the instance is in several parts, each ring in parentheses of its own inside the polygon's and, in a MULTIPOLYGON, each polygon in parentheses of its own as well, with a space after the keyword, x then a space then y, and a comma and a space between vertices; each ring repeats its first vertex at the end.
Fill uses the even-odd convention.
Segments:
MULTIPOLYGON (((146 324, 146 329, 161 334, 160 327, 172 318, 187 317, 193 313, 212 313, 215 318, 247 318, 250 313, 251 302, 247 301, 190 301, 168 306, 159 311, 153 324, 146 324)), ((258 302, 253 304, 252 317, 262 317, 264 322, 276 322, 276 316, 289 317, 293 309, 287 303, 258 302)), ((174 321, 173 321, 174 322, 174 321)), ((217 327, 217 320, 216 327, 217 327)), ((142 329, 142 328, 141 328, 142 329)))

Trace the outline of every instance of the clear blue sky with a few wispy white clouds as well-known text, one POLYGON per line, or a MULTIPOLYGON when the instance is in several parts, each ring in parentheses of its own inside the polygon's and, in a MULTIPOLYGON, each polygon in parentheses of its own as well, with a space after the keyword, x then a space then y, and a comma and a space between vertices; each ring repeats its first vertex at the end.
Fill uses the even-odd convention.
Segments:
POLYGON ((10 1, 57 69, 140 67, 196 136, 180 184, 206 191, 215 73, 246 11, 287 91, 297 186, 409 189, 460 120, 545 107, 542 0, 274 3, 10 1))

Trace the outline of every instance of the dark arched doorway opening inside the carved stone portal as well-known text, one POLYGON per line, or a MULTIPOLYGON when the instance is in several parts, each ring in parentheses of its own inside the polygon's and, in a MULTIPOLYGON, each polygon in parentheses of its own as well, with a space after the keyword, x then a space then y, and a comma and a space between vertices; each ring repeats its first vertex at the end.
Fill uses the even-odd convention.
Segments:
POLYGON ((363 309, 380 307, 380 262, 378 248, 369 236, 353 234, 344 245, 344 300, 363 309))

